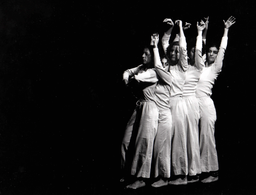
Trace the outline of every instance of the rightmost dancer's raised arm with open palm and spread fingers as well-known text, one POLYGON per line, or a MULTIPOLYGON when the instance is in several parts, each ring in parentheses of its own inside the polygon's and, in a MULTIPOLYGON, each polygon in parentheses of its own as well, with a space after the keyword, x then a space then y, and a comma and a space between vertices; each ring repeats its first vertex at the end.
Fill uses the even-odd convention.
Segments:
POLYGON ((221 43, 220 43, 220 48, 219 48, 219 51, 218 51, 218 54, 217 54, 217 57, 215 59, 215 62, 213 64, 213 70, 215 72, 220 72, 221 71, 221 68, 222 68, 222 62, 223 62, 223 59, 224 59, 224 53, 226 51, 226 48, 227 48, 227 33, 228 33, 228 29, 233 25, 235 24, 235 19, 234 17, 229 17, 227 19, 227 22, 224 22, 224 34, 223 34, 223 37, 222 37, 222 40, 221 40, 221 43))

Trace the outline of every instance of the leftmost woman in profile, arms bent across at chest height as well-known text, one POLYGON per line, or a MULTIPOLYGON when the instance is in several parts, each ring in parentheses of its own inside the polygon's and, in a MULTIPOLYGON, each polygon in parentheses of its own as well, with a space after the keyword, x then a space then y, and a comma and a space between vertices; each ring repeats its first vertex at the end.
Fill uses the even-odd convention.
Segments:
MULTIPOLYGON (((153 46, 147 46, 143 53, 143 64, 126 70, 123 80, 128 86, 134 82, 137 88, 136 119, 133 125, 129 150, 132 154, 129 174, 135 176, 135 182, 126 188, 137 189, 145 186, 150 177, 153 144, 157 132, 158 109, 154 92, 157 85, 157 73, 151 59, 154 58, 153 46), (129 81, 129 82, 128 82, 129 81)), ((127 161, 128 159, 125 159, 127 161)), ((129 159, 130 161, 130 159, 129 159)))

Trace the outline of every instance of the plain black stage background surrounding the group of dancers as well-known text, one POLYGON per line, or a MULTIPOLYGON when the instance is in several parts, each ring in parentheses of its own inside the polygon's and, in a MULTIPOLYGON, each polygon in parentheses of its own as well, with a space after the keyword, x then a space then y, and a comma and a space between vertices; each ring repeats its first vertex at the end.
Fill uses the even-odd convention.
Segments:
POLYGON ((254 194, 254 34, 251 1, 1 1, 1 194, 254 194), (236 17, 212 95, 219 181, 124 189, 120 144, 136 100, 122 73, 165 18, 191 23, 189 40, 207 16, 207 42, 236 17))

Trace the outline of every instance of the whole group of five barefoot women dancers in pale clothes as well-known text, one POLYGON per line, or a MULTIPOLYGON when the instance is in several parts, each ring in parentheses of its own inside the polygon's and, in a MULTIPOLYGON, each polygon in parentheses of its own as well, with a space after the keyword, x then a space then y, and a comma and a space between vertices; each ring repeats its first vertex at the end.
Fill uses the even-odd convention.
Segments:
POLYGON ((153 187, 181 185, 218 180, 215 148, 216 110, 212 95, 214 82, 221 72, 227 47, 228 29, 235 23, 229 17, 224 23, 220 46, 206 45, 209 17, 197 22, 196 43, 188 48, 183 30, 190 23, 176 20, 180 29, 174 41, 169 38, 175 26, 171 19, 163 22, 169 29, 162 38, 165 55, 159 55, 158 34, 143 51, 143 64, 123 73, 123 81, 138 98, 122 140, 123 182, 134 180, 126 188, 145 186, 147 178, 158 178, 153 187), (207 46, 207 49, 206 49, 207 46), (172 175, 174 180, 169 181, 172 175))

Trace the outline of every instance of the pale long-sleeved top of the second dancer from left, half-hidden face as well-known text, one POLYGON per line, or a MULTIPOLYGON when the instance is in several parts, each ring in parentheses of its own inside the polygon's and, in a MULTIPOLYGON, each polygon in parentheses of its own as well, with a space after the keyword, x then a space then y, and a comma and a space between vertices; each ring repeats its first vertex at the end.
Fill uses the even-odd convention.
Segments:
POLYGON ((154 65, 157 75, 160 77, 157 82, 155 89, 155 102, 158 110, 163 110, 170 108, 170 95, 171 95, 171 85, 172 77, 169 72, 167 72, 161 65, 161 60, 157 48, 154 48, 154 65))

